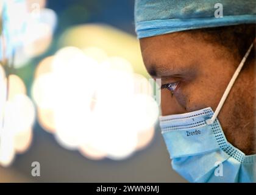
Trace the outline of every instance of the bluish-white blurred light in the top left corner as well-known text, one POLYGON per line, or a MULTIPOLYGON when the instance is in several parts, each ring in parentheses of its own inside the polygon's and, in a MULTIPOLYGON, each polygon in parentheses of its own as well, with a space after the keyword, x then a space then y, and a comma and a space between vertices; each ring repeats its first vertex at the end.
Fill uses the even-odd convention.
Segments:
POLYGON ((14 66, 19 68, 49 48, 57 16, 44 8, 45 1, 3 0, 2 4, 1 52, 7 59, 15 55, 14 66))

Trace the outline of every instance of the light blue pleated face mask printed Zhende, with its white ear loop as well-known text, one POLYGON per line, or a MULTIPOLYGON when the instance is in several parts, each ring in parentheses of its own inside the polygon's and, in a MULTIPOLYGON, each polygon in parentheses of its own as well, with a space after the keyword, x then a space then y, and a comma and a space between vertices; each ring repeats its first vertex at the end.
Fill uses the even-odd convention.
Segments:
POLYGON ((215 112, 204 108, 160 116, 160 127, 172 168, 189 182, 256 182, 256 155, 245 155, 230 144, 218 116, 253 43, 235 71, 215 112))

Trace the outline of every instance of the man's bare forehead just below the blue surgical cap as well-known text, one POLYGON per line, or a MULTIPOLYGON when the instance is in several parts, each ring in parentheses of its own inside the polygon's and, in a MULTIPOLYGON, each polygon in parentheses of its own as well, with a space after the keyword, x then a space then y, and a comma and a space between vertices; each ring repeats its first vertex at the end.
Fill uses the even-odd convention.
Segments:
POLYGON ((201 42, 198 35, 192 36, 190 32, 141 38, 144 65, 150 74, 155 70, 162 72, 166 67, 185 68, 197 60, 200 48, 204 47, 201 42))

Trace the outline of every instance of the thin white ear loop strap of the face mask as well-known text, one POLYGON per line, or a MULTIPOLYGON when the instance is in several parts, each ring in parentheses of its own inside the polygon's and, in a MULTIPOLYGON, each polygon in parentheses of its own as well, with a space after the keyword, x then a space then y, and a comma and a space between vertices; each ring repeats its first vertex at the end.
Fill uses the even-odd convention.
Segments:
MULTIPOLYGON (((255 40, 254 40, 255 41, 255 40)), ((229 82, 229 85, 227 85, 227 88, 224 92, 224 94, 222 95, 221 101, 219 101, 218 107, 215 110, 215 113, 213 114, 212 118, 207 119, 205 122, 210 125, 213 124, 213 122, 215 121, 215 119, 217 118, 219 111, 222 108, 222 105, 224 104, 224 102, 227 99, 227 96, 229 95, 229 92, 231 90, 231 88, 233 87, 233 84, 235 83, 236 78, 238 77, 238 74, 240 73, 241 69, 243 68, 244 63, 246 62, 246 59, 248 57, 248 55, 250 54, 251 50, 252 50, 252 46, 254 46, 254 41, 252 42, 251 46, 249 47, 249 49, 247 50, 246 54, 243 57, 243 60, 241 60, 238 68, 236 68, 235 73, 233 74, 232 79, 229 82)))

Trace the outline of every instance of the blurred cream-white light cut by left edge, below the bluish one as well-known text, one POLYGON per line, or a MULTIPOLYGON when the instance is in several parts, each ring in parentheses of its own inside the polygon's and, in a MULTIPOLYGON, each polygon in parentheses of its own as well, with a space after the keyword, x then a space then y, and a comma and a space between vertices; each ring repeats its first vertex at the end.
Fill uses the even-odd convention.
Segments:
POLYGON ((26 87, 20 77, 10 75, 7 79, 0 66, 0 165, 9 166, 15 152, 25 152, 32 141, 35 110, 26 96, 26 87))

